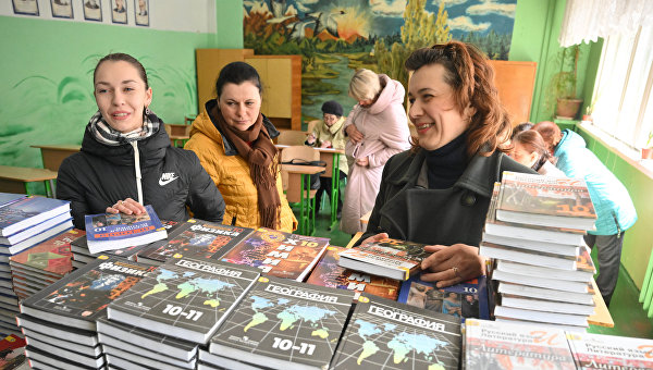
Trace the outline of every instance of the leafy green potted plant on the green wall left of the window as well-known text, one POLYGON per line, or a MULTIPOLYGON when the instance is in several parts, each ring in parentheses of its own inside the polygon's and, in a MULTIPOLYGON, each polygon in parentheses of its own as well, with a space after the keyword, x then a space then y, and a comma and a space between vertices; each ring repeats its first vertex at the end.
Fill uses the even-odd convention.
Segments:
POLYGON ((549 106, 555 104, 556 118, 574 120, 582 104, 582 99, 576 97, 579 57, 578 45, 564 48, 558 54, 559 70, 551 77, 547 94, 549 106))

